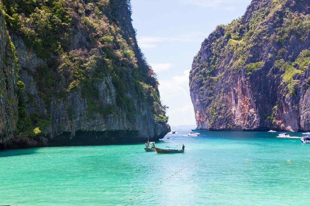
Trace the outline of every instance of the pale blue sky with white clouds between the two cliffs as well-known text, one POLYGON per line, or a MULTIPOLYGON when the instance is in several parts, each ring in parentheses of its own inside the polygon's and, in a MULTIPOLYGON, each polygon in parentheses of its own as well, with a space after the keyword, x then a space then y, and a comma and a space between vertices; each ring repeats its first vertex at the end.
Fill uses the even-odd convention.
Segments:
POLYGON ((188 75, 202 41, 241 17, 250 0, 131 0, 138 45, 157 73, 172 126, 196 125, 188 75))

